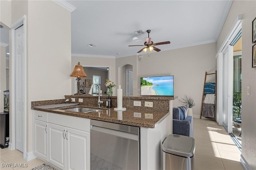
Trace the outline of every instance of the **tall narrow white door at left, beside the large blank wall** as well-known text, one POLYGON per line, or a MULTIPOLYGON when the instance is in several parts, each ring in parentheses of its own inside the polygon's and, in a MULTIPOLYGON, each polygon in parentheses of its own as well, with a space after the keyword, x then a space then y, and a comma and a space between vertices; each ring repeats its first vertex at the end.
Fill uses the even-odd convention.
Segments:
POLYGON ((15 30, 15 145, 24 147, 24 37, 23 26, 15 30))

